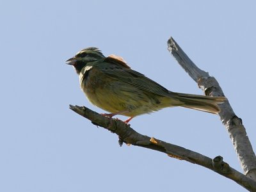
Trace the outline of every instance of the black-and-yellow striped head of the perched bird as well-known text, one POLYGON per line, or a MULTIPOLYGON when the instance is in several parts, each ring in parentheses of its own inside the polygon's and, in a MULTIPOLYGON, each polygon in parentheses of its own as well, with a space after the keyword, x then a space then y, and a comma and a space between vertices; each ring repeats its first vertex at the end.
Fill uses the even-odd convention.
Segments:
POLYGON ((105 58, 105 56, 100 52, 100 50, 96 47, 88 47, 83 49, 77 54, 66 61, 68 65, 74 66, 76 69, 77 74, 79 74, 82 68, 90 62, 94 62, 100 59, 105 58))

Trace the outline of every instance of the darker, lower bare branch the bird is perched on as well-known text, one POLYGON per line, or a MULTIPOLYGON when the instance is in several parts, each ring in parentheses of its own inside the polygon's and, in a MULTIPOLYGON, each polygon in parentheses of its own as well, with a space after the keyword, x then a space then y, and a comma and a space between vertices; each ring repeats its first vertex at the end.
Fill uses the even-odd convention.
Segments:
POLYGON ((205 168, 209 168, 210 170, 219 173, 220 175, 227 177, 228 179, 234 180, 237 182, 237 184, 243 186, 249 191, 256 191, 256 182, 249 177, 246 177, 242 173, 237 172, 237 170, 234 170, 234 168, 231 168, 227 163, 223 161, 221 156, 211 159, 178 145, 166 143, 164 141, 157 140, 156 138, 150 138, 134 131, 130 125, 125 124, 121 120, 102 116, 99 113, 96 113, 95 111, 92 111, 86 107, 70 105, 70 109, 79 115, 88 118, 88 120, 92 121, 94 125, 104 127, 105 129, 116 133, 125 143, 139 147, 150 148, 152 150, 163 152, 168 156, 179 160, 185 160, 189 163, 199 164, 205 168))

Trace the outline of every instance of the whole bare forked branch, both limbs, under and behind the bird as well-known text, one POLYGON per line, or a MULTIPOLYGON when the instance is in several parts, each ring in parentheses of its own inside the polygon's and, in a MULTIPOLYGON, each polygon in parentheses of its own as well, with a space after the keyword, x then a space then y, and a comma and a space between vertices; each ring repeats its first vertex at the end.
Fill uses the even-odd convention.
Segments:
MULTIPOLYGON (((182 68, 188 72, 189 76, 198 83, 200 88, 205 92, 205 95, 224 95, 216 79, 210 77, 204 70, 200 70, 200 68, 196 67, 195 63, 188 58, 172 37, 168 40, 168 50, 176 58, 182 68)), ((142 135, 134 131, 134 129, 121 120, 102 116, 85 107, 70 105, 70 109, 88 118, 94 125, 99 125, 117 134, 121 143, 124 142, 139 147, 150 148, 163 152, 170 157, 204 166, 228 179, 234 180, 237 184, 249 191, 256 191, 256 157, 248 136, 246 135, 242 120, 235 115, 228 101, 220 104, 220 108, 221 112, 219 115, 221 121, 230 134, 237 156, 239 157, 239 161, 246 175, 231 168, 223 161, 221 156, 211 159, 192 150, 142 135)))

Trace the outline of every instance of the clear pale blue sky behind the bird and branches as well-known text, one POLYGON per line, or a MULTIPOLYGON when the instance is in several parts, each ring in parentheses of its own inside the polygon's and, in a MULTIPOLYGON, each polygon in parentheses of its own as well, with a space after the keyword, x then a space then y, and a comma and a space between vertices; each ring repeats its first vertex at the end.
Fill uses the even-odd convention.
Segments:
MULTIPOLYGON (((167 51, 173 36, 218 79, 255 148, 255 10, 255 1, 1 2, 0 191, 245 191, 195 164, 119 147, 115 134, 68 109, 104 112, 88 102, 65 60, 99 47, 169 90, 202 94, 167 51)), ((134 118, 131 127, 223 156, 241 171, 216 115, 167 108, 134 118)))

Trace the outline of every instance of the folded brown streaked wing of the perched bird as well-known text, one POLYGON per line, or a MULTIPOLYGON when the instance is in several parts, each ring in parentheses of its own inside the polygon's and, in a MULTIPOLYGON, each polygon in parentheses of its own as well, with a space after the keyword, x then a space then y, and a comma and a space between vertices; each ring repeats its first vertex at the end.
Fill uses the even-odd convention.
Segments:
POLYGON ((170 97, 170 94, 172 94, 172 92, 161 86, 161 84, 156 83, 140 72, 132 70, 123 60, 107 57, 102 64, 100 70, 112 79, 123 81, 124 83, 131 84, 143 91, 155 93, 157 95, 170 97))

